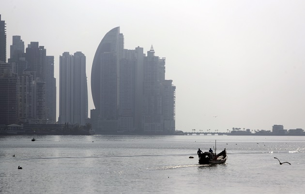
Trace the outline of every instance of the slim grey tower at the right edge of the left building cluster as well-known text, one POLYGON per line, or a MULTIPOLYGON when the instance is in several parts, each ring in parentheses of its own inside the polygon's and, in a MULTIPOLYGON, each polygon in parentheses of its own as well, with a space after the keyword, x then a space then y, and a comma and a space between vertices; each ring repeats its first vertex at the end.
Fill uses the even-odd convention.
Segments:
POLYGON ((54 78, 54 56, 46 56, 46 120, 56 123, 56 79, 54 78))

